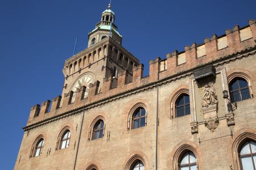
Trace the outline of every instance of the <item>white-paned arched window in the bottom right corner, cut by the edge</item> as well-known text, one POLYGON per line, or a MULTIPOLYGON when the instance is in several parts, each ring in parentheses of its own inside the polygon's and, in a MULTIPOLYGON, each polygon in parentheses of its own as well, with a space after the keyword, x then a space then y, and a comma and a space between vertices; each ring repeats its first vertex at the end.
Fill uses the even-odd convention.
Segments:
POLYGON ((243 170, 256 170, 256 142, 246 141, 242 145, 239 155, 243 170))

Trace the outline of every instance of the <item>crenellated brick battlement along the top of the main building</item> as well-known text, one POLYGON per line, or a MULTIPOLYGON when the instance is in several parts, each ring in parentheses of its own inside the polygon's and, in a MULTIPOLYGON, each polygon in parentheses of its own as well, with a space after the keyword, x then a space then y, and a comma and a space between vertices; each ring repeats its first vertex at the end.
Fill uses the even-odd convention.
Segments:
POLYGON ((199 66, 213 65, 220 60, 232 58, 236 54, 242 55, 249 50, 255 51, 255 47, 256 20, 249 20, 249 25, 246 27, 240 28, 236 25, 233 29, 226 29, 225 35, 213 35, 210 38, 205 38, 203 44, 193 43, 191 46, 185 46, 183 52, 175 50, 173 53, 168 53, 166 59, 157 57, 151 60, 149 76, 143 77, 144 65, 140 64, 133 66, 132 79, 127 79, 128 70, 119 73, 116 78, 109 76, 104 79, 100 93, 98 93, 100 82, 96 81, 94 84, 90 84, 89 94, 85 99, 83 96, 86 87, 83 86, 75 92, 70 91, 68 94, 64 94, 63 99, 61 96, 57 96, 52 99, 52 103, 47 100, 42 103, 41 107, 39 104, 34 105, 31 108, 27 126, 79 108, 106 103, 107 100, 115 100, 117 96, 125 97, 131 93, 137 93, 139 89, 154 86, 164 79, 175 78, 199 66), (76 94, 76 98, 72 102, 74 94, 76 94), (63 104, 60 107, 61 100, 63 100, 63 104))

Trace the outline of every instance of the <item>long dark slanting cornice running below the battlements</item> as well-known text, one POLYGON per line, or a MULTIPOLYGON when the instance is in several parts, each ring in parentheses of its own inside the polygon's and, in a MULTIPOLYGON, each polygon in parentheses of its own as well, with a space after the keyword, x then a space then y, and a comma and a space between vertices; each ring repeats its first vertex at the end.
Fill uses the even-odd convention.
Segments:
MULTIPOLYGON (((231 54, 229 56, 221 57, 221 58, 217 59, 216 61, 208 62, 204 65, 213 65, 214 67, 218 67, 218 66, 224 65, 225 63, 234 62, 237 59, 242 59, 244 57, 249 57, 249 56, 254 55, 254 54, 256 54, 256 46, 254 46, 253 48, 248 48, 248 49, 242 50, 241 52, 231 54)), ((131 90, 124 91, 124 92, 121 92, 119 94, 115 94, 113 96, 105 97, 104 99, 94 101, 93 103, 83 105, 82 107, 78 107, 78 108, 75 108, 75 109, 71 109, 67 112, 57 114, 55 116, 46 118, 42 121, 38 121, 38 122, 35 122, 34 124, 28 125, 28 126, 24 127, 23 130, 27 131, 27 130, 30 130, 30 129, 34 129, 38 126, 48 124, 50 122, 59 120, 61 118, 72 116, 73 114, 79 114, 82 111, 88 111, 89 109, 98 107, 100 105, 108 104, 112 101, 119 100, 119 99, 122 99, 122 98, 127 97, 127 96, 135 95, 135 94, 138 94, 140 92, 147 91, 147 90, 150 90, 152 88, 162 86, 163 84, 171 83, 171 82, 174 82, 178 79, 185 78, 187 76, 191 76, 192 71, 195 70, 195 69, 198 69, 201 66, 203 66, 203 65, 199 65, 197 67, 194 67, 193 69, 182 71, 182 72, 177 73, 175 75, 168 76, 166 78, 157 80, 155 82, 144 84, 140 87, 133 88, 131 90)))

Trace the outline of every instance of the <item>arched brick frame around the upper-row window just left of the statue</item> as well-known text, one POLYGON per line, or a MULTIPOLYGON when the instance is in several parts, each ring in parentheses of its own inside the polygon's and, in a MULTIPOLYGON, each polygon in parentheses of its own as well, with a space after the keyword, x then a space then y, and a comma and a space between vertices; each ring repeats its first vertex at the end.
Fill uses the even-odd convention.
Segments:
MULTIPOLYGON (((179 90, 175 91, 175 94, 171 98, 171 118, 178 118, 176 116, 176 101, 180 98, 181 95, 186 94, 189 96, 189 109, 191 114, 191 96, 189 95, 189 89, 188 88, 180 88, 179 90)), ((187 114, 189 115, 189 114, 187 114)), ((185 116, 187 116, 185 115, 185 116)), ((183 116, 181 116, 183 117, 183 116)))

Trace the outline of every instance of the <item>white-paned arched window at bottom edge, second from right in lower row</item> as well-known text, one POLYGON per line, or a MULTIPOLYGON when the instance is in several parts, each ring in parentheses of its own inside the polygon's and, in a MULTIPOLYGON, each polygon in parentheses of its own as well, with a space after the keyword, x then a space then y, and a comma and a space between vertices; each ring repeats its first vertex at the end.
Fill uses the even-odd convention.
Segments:
POLYGON ((180 170, 196 170, 196 156, 191 151, 185 152, 185 154, 182 156, 180 162, 180 170))

